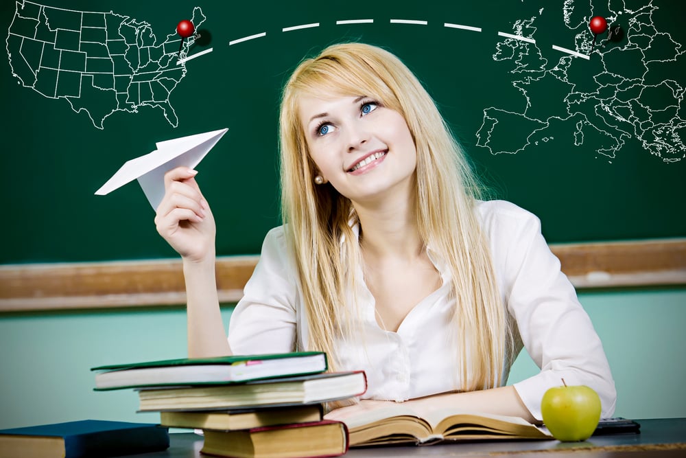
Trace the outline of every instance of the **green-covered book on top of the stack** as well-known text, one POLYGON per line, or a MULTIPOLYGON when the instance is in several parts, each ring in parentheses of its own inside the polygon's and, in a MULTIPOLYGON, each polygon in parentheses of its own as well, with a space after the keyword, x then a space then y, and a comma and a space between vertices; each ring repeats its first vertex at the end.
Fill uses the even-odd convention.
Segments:
POLYGON ((101 365, 95 371, 95 390, 236 383, 286 376, 318 374, 328 369, 324 352, 290 352, 177 358, 128 364, 101 365))

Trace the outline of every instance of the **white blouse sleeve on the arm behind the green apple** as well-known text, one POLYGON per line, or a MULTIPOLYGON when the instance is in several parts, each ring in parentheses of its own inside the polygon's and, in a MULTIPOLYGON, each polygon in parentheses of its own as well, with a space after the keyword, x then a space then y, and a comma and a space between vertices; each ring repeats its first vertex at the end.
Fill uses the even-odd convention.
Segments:
POLYGON ((490 205, 497 208, 487 227, 506 305, 528 354, 541 368, 512 386, 539 420, 543 393, 563 385, 563 379, 598 392, 602 416, 610 417, 616 391, 602 342, 543 238, 539 218, 510 203, 490 205))

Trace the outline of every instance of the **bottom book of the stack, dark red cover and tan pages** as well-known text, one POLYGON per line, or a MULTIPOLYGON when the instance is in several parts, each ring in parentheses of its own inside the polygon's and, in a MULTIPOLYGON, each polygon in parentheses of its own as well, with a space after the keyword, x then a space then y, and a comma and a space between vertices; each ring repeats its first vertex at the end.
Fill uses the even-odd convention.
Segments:
POLYGON ((239 431, 204 431, 201 453, 235 458, 335 457, 348 451, 343 422, 265 426, 239 431))

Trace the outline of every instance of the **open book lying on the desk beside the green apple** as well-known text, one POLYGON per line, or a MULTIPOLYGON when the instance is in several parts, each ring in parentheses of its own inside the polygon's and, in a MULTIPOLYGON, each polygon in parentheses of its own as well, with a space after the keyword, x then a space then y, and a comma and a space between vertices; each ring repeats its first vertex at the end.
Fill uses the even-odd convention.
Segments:
POLYGON ((543 428, 520 417, 440 409, 420 415, 407 404, 337 417, 348 426, 350 446, 428 445, 442 441, 552 439, 543 428))

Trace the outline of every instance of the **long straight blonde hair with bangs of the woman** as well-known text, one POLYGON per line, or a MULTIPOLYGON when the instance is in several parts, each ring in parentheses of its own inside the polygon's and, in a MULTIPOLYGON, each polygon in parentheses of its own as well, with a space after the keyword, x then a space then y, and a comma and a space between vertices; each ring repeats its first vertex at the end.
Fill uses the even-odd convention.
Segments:
POLYGON ((460 390, 504 383, 512 345, 488 243, 475 202, 480 185, 423 85, 386 49, 342 43, 300 62, 281 100, 281 209, 294 250, 311 350, 332 356, 335 339, 351 339, 350 291, 361 261, 351 201, 331 185, 315 185, 298 116, 300 95, 365 95, 405 117, 417 151, 416 215, 425 244, 445 258, 453 278, 453 325, 460 390))

